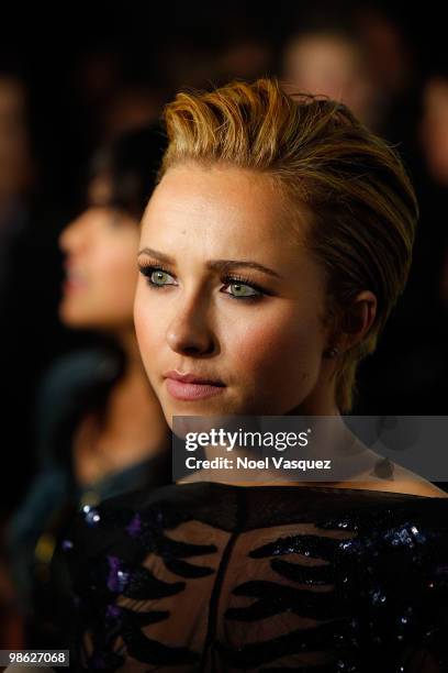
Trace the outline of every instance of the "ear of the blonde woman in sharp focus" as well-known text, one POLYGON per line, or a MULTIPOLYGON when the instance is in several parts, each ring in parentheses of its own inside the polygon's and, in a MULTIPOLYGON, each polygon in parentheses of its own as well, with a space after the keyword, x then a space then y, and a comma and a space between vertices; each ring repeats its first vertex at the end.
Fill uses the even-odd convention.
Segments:
POLYGON ((340 321, 337 347, 340 353, 360 343, 377 317, 377 297, 370 290, 359 293, 346 308, 340 321))

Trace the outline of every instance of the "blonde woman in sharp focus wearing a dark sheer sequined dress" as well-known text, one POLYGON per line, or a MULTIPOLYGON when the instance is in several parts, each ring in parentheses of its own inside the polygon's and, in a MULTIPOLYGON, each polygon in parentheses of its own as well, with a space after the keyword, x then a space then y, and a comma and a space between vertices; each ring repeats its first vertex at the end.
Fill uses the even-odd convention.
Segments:
MULTIPOLYGON (((340 420, 408 272, 417 207, 400 159, 344 106, 269 79, 179 95, 166 122, 134 316, 167 421, 340 420)), ((446 494, 371 467, 98 508, 67 541, 76 665, 446 670, 446 494)))

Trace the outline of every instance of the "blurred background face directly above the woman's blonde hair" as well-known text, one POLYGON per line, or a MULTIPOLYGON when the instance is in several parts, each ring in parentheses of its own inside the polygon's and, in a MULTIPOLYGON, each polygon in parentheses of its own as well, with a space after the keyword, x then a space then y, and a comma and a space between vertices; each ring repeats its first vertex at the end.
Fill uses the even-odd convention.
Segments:
POLYGON ((304 30, 283 52, 282 78, 291 90, 346 103, 368 126, 379 123, 379 100, 361 44, 339 29, 304 30))

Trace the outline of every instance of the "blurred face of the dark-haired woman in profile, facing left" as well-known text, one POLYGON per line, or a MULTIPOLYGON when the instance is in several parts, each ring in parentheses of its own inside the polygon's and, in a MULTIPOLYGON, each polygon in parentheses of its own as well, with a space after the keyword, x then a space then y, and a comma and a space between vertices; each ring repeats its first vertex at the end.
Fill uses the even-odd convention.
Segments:
POLYGON ((133 330, 138 222, 108 206, 109 185, 96 179, 90 207, 60 235, 65 282, 61 321, 71 328, 120 333, 133 330))

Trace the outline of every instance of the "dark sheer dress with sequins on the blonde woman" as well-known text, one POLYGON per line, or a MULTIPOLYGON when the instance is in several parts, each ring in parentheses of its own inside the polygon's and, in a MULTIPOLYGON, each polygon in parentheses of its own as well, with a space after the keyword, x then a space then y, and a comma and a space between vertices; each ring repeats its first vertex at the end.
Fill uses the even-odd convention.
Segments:
POLYGON ((65 540, 76 670, 448 671, 448 499, 199 483, 65 540))

